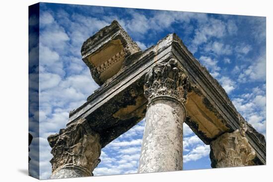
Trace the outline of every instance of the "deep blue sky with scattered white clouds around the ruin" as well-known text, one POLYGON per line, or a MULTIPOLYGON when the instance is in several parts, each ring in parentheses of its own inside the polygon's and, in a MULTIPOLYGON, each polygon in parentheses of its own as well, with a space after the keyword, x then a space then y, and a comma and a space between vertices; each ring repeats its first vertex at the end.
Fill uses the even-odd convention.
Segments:
MULTIPOLYGON (((39 141, 41 179, 51 175, 47 137, 64 128, 69 111, 98 88, 81 60, 81 45, 114 19, 142 50, 175 32, 219 81, 237 111, 266 134, 265 17, 41 3, 40 136, 32 143, 39 141)), ((33 45, 30 59, 35 50, 33 45)), ((209 146, 185 123, 183 128, 184 170, 210 168, 209 146)), ((102 149, 94 175, 136 173, 143 129, 144 120, 102 149)), ((31 158, 37 164, 38 156, 31 158)))

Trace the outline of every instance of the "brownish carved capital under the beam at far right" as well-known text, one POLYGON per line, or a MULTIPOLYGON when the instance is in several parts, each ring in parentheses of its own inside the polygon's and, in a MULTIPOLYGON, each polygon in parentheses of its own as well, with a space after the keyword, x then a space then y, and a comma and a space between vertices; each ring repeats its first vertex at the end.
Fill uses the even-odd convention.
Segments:
POLYGON ((212 168, 241 167, 255 165, 252 161, 255 150, 246 138, 246 126, 239 117, 241 127, 231 133, 224 133, 210 143, 212 168))

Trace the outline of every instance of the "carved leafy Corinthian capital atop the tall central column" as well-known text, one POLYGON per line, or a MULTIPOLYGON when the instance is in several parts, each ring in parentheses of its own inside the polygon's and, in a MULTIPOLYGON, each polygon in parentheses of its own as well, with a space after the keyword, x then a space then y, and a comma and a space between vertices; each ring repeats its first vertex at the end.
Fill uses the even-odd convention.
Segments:
POLYGON ((157 96, 170 96, 185 103, 189 87, 188 75, 177 60, 159 62, 145 76, 144 94, 150 101, 157 96))

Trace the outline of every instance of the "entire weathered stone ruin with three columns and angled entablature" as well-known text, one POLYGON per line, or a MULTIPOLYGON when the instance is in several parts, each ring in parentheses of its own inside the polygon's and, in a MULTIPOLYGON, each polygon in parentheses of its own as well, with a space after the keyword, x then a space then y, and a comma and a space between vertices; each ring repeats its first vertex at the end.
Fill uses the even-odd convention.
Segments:
POLYGON ((115 20, 81 55, 100 88, 48 137, 52 179, 93 176, 101 149, 143 118, 138 173, 183 170, 183 122, 210 145, 212 168, 266 164, 264 135, 175 33, 141 51, 115 20))

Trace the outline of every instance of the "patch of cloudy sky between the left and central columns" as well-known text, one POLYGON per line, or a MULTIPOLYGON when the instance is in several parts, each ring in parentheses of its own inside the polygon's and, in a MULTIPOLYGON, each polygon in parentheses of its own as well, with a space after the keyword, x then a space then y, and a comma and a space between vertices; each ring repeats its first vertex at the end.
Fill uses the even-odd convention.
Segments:
POLYGON ((137 172, 143 126, 144 120, 102 149, 102 162, 94 170, 95 176, 137 172))

